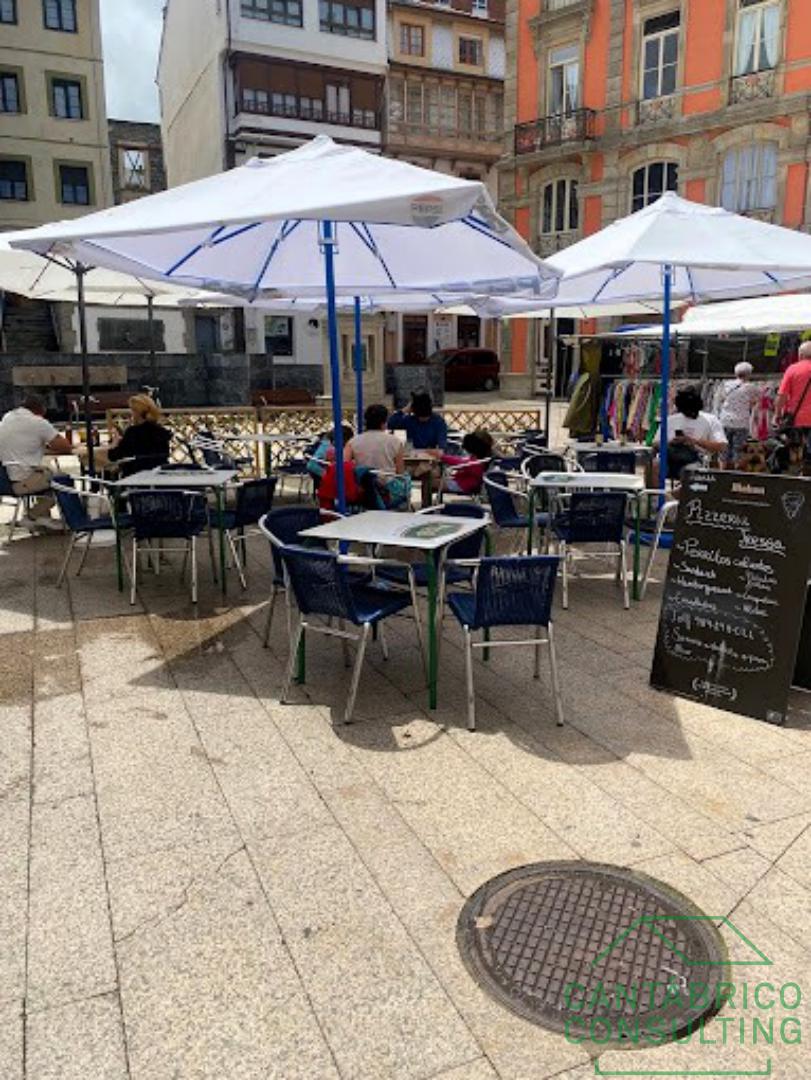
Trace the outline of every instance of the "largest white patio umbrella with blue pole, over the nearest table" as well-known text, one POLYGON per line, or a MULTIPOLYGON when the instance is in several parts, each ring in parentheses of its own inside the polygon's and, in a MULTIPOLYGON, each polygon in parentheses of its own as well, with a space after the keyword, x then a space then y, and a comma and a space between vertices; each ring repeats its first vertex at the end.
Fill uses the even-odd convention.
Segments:
POLYGON ((319 136, 288 153, 33 230, 13 246, 243 295, 327 297, 343 503, 335 297, 555 291, 485 186, 319 136))

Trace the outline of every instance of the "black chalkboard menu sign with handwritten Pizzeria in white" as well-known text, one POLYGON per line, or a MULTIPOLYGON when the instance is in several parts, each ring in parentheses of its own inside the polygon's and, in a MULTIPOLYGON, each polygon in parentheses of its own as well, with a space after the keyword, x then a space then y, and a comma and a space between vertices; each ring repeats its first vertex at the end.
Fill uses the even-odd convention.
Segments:
POLYGON ((811 563, 811 481, 688 469, 651 685, 785 720, 811 563))

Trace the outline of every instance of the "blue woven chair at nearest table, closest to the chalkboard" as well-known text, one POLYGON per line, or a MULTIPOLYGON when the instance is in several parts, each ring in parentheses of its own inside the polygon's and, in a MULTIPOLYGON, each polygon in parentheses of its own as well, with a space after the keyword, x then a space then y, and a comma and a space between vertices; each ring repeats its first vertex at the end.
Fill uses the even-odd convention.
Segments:
POLYGON ((473 650, 492 648, 535 648, 535 677, 540 677, 541 646, 550 647, 552 692, 558 727, 564 723, 557 656, 552 629, 552 600, 559 558, 554 555, 508 555, 483 558, 476 571, 475 592, 450 593, 448 607, 464 632, 464 666, 468 681, 468 728, 476 730, 476 703, 473 688, 473 650), (473 639, 477 631, 498 626, 535 626, 535 636, 521 640, 473 639), (541 636, 540 631, 545 631, 541 636))

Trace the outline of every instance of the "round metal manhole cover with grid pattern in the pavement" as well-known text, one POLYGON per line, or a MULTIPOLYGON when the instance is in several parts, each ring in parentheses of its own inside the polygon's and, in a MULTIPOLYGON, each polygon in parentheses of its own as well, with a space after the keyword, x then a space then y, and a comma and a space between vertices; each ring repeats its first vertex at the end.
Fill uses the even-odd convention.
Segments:
POLYGON ((457 942, 473 977, 526 1020, 600 1045, 653 1045, 716 1012, 728 982, 714 921, 621 867, 536 863, 482 886, 457 942))

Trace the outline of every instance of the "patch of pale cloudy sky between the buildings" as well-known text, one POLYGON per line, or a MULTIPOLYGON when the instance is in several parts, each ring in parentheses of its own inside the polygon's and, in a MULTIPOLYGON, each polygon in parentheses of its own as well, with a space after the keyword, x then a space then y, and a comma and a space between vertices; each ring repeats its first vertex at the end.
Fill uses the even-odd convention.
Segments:
POLYGON ((160 119, 158 48, 164 0, 102 0, 107 116, 112 120, 160 119))

